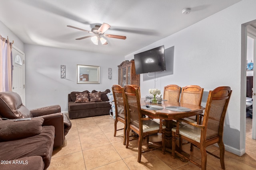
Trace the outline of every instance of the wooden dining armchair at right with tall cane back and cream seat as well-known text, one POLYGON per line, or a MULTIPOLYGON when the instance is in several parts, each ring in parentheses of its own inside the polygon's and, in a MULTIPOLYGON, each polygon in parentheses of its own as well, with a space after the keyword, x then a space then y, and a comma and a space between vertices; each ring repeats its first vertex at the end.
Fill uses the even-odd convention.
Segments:
POLYGON ((216 158, 219 158, 221 168, 225 169, 223 128, 224 118, 231 94, 232 90, 228 86, 221 86, 214 90, 210 90, 202 125, 194 124, 184 119, 177 120, 177 127, 172 128, 172 158, 175 158, 175 154, 177 154, 183 159, 189 160, 201 167, 202 170, 206 170, 207 153, 209 153, 216 158), (180 127, 180 121, 187 123, 187 125, 180 127), (185 139, 200 149, 202 157, 201 165, 176 151, 176 137, 185 139), (215 143, 218 143, 220 147, 220 156, 214 155, 206 150, 206 147, 215 143))

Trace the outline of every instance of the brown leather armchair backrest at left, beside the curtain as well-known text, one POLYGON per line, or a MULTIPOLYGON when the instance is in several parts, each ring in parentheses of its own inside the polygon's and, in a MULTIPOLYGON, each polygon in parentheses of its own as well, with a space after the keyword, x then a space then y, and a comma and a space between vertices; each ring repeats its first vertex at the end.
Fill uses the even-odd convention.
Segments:
POLYGON ((7 119, 33 117, 15 92, 0 92, 0 117, 7 119))

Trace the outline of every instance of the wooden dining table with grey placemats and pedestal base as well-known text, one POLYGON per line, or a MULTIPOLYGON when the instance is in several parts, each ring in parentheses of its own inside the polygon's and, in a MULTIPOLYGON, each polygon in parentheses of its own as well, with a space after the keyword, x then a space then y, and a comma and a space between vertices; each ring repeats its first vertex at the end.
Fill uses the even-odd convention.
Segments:
POLYGON ((146 105, 145 101, 146 101, 146 98, 140 99, 142 114, 148 115, 154 119, 164 120, 164 125, 166 126, 166 129, 165 129, 166 150, 170 150, 172 147, 172 127, 173 127, 172 120, 199 115, 203 113, 205 109, 204 107, 198 106, 198 105, 185 104, 185 103, 173 102, 168 100, 163 100, 162 104, 150 103, 151 106, 152 105, 162 106, 163 109, 158 109, 158 110, 151 110, 150 108, 143 109, 145 108, 145 105, 146 105), (190 111, 172 111, 172 110, 166 109, 166 107, 168 108, 170 106, 185 107, 185 108, 188 108, 190 111))

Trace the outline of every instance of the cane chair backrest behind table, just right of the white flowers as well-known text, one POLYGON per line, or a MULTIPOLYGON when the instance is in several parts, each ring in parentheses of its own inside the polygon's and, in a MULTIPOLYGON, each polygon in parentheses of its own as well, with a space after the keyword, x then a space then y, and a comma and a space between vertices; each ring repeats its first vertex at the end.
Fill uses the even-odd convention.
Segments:
POLYGON ((180 86, 170 84, 164 87, 164 100, 179 102, 180 86))

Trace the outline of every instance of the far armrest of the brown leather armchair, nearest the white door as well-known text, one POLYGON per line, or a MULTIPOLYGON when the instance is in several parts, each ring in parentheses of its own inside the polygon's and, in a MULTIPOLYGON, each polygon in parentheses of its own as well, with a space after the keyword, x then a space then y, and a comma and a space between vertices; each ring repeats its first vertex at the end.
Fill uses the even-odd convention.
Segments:
POLYGON ((60 113, 60 111, 61 111, 60 105, 53 105, 53 106, 32 109, 30 110, 30 113, 33 115, 33 117, 38 117, 42 115, 49 115, 52 113, 60 113))

